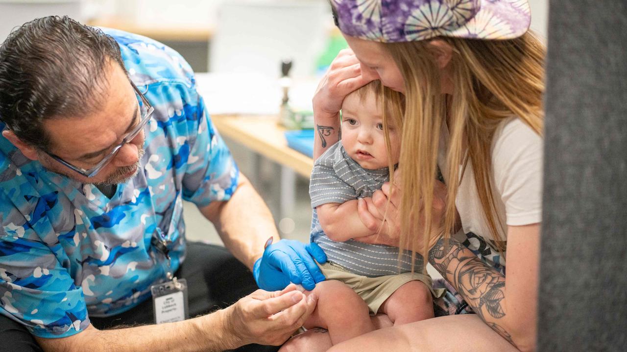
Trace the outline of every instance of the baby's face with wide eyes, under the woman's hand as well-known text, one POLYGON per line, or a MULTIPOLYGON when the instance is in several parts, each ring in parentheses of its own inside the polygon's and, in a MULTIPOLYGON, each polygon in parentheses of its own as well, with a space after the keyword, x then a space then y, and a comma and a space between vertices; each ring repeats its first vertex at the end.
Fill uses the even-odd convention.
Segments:
MULTIPOLYGON (((401 138, 396 127, 390 125, 392 161, 398 163, 401 138)), ((349 157, 369 170, 388 167, 383 133, 383 111, 377 106, 374 93, 368 93, 362 103, 356 93, 342 103, 342 145, 349 157)))

